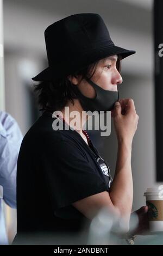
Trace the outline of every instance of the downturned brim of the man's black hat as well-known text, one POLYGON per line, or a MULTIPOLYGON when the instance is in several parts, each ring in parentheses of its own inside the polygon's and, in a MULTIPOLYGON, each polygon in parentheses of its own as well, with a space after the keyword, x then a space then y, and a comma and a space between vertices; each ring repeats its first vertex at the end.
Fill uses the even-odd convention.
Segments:
MULTIPOLYGON (((124 59, 132 54, 136 53, 135 51, 127 50, 118 46, 108 46, 103 48, 96 48, 93 49, 91 52, 85 52, 83 53, 83 57, 85 56, 86 63, 83 65, 80 65, 80 69, 84 69, 87 65, 92 64, 93 62, 97 62, 100 59, 120 54, 121 59, 124 59)), ((80 58, 78 58, 80 59, 80 58)), ((64 77, 70 75, 72 72, 75 72, 78 70, 78 66, 74 65, 73 67, 69 66, 69 69, 65 70, 63 74, 63 70, 59 69, 59 65, 57 66, 48 66, 48 68, 41 71, 37 76, 33 77, 33 81, 53 81, 57 80, 59 77, 64 77), (76 69, 76 70, 75 70, 76 69)))

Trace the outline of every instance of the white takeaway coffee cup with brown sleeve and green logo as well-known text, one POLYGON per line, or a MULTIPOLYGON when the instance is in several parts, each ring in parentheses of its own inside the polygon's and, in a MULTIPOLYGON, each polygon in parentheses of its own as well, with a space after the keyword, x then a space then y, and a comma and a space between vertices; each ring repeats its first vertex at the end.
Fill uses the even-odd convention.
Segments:
POLYGON ((148 206, 149 230, 163 231, 163 191, 158 188, 147 188, 144 193, 148 206))

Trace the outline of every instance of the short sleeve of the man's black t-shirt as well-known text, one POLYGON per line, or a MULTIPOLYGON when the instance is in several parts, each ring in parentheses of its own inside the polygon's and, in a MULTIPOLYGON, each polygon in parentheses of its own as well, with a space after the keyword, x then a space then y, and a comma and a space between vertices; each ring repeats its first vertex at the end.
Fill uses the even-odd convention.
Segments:
POLYGON ((54 210, 107 190, 98 168, 91 166, 76 143, 48 143, 42 162, 54 210))

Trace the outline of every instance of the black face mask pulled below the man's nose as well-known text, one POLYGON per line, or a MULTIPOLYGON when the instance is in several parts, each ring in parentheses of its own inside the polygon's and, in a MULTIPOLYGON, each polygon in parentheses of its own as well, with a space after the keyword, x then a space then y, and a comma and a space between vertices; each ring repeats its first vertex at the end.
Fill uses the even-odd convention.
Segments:
POLYGON ((119 93, 104 90, 96 83, 92 82, 89 78, 85 78, 85 80, 95 89, 96 96, 93 99, 86 97, 77 88, 79 101, 84 111, 97 111, 98 113, 100 111, 111 111, 114 108, 115 102, 119 100, 119 93))

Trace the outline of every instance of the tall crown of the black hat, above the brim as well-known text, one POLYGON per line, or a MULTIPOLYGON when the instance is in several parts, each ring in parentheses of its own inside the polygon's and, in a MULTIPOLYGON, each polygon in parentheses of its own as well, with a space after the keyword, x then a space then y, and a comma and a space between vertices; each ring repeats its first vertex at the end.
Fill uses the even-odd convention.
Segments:
POLYGON ((45 30, 49 66, 61 60, 74 62, 84 53, 113 46, 110 34, 99 14, 74 14, 54 22, 45 30))

